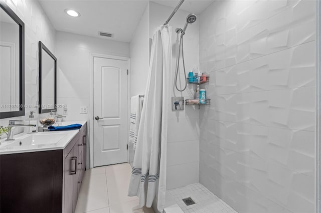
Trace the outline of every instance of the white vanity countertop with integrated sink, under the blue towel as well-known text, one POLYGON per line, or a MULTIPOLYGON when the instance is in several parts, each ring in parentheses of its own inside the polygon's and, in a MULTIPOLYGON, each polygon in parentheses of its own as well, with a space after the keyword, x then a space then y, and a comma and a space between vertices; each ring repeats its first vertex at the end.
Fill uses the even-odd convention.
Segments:
MULTIPOLYGON (((84 125, 87 121, 62 121, 55 126, 79 123, 84 125)), ((0 140, 0 154, 24 153, 34 151, 47 151, 64 149, 79 132, 78 130, 45 131, 36 133, 20 133, 14 136, 15 140, 0 140), (43 141, 43 142, 42 142, 43 141)))

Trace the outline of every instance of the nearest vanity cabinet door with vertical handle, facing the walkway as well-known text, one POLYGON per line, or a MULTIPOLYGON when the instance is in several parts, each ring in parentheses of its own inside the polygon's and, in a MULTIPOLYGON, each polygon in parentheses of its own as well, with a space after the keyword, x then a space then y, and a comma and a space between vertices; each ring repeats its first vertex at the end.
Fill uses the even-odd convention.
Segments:
POLYGON ((74 197, 74 176, 77 170, 76 157, 73 149, 69 152, 65 158, 65 187, 64 187, 64 213, 73 212, 73 197, 74 197))

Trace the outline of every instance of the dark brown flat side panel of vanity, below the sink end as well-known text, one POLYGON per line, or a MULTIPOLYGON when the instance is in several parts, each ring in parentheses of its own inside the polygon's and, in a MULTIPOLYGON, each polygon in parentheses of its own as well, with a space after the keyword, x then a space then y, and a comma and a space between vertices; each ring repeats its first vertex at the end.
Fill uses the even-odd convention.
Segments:
POLYGON ((1 154, 0 212, 61 213, 62 156, 62 149, 1 154))

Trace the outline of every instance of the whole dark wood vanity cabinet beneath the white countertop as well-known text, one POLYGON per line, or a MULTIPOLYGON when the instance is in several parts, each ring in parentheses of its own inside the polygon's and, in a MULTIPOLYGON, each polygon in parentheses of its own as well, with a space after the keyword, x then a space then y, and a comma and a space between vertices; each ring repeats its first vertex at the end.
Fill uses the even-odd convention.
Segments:
POLYGON ((72 213, 86 169, 87 126, 65 149, 0 155, 1 213, 72 213))

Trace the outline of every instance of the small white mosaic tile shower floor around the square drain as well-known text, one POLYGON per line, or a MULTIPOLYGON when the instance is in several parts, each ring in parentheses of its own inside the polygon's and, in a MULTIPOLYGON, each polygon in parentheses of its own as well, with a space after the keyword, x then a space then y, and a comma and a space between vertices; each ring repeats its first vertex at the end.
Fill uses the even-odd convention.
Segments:
POLYGON ((175 199, 182 210, 187 213, 237 213, 236 210, 209 191, 201 183, 171 189, 168 190, 168 193, 175 199), (191 197, 195 201, 195 204, 186 205, 183 199, 187 197, 191 197))

